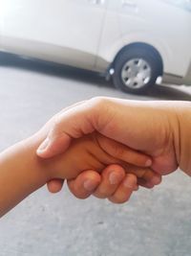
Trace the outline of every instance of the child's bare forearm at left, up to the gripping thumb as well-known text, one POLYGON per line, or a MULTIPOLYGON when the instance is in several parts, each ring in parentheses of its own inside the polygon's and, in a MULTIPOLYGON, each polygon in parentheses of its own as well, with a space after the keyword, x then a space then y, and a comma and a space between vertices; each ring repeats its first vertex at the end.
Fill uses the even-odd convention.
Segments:
POLYGON ((39 143, 29 138, 0 153, 0 217, 49 180, 39 143))

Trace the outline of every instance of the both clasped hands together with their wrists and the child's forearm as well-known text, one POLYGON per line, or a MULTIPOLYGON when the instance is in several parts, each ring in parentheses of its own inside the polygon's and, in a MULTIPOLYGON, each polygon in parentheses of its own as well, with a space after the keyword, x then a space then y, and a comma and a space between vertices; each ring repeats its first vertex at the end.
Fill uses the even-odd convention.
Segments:
POLYGON ((1 152, 0 217, 44 184, 127 201, 178 167, 191 175, 191 104, 98 97, 65 108, 1 152), (5 186, 6 184, 6 186, 5 186))

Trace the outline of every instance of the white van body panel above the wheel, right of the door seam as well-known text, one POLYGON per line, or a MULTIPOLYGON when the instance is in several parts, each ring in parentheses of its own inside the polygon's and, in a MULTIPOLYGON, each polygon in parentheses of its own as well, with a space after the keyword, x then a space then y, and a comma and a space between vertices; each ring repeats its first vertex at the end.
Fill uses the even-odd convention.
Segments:
POLYGON ((124 0, 118 1, 117 13, 123 46, 151 45, 163 60, 164 73, 185 76, 191 59, 191 12, 162 0, 124 0))

